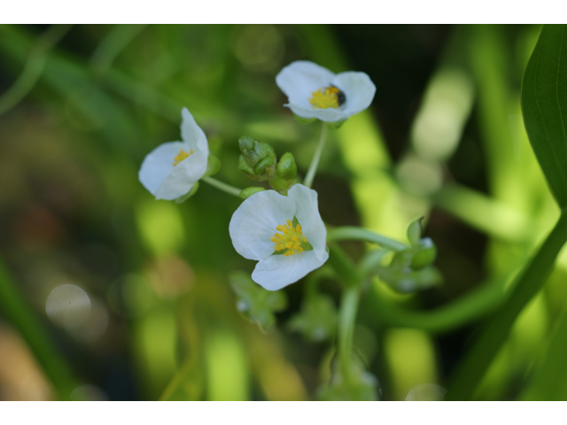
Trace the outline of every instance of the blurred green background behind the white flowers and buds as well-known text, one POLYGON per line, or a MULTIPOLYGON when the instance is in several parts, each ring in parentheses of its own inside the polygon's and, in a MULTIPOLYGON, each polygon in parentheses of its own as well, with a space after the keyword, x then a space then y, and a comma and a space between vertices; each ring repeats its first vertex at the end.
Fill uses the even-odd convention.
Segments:
MULTIPOLYGON (((405 242, 426 217, 444 285, 402 296, 372 282, 354 346, 381 398, 442 398, 559 213, 519 104, 539 31, 1 26, 0 280, 27 309, 3 293, 0 399, 316 398, 333 336, 313 342, 290 323, 313 285, 338 305, 338 282, 323 268, 287 287, 263 332, 229 285, 254 266, 229 238, 239 200, 202 183, 181 205, 155 201, 137 179, 147 153, 179 140, 183 106, 221 159, 219 180, 251 185, 237 172, 241 135, 291 151, 305 175, 319 126, 294 120, 275 83, 298 59, 377 86, 368 111, 330 131, 314 189, 330 226, 405 242)), ((354 259, 365 249, 343 247, 354 259)), ((474 399, 567 398, 566 277, 562 254, 474 399)))

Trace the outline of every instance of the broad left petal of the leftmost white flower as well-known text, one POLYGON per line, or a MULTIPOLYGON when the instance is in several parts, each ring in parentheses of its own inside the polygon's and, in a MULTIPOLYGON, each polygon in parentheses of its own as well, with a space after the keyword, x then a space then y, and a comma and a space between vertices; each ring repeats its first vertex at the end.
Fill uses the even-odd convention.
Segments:
POLYGON ((182 149, 189 152, 186 143, 162 143, 144 158, 138 178, 152 195, 156 194, 161 183, 174 169, 174 158, 182 149))

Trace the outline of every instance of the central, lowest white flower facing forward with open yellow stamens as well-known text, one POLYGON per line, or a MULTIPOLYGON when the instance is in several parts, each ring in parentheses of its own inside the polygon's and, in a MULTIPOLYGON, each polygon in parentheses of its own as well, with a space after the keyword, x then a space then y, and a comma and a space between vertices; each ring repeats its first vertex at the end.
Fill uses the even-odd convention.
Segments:
POLYGON ((252 280, 267 290, 281 290, 329 259, 317 192, 302 184, 287 197, 275 190, 248 197, 232 215, 229 233, 240 255, 259 261, 252 280))

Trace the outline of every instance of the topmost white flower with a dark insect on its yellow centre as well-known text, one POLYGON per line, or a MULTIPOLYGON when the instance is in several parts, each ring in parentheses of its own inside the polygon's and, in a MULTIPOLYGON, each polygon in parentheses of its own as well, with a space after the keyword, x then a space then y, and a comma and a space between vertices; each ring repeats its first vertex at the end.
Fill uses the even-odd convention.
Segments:
POLYGON ((376 86, 366 73, 331 73, 307 60, 285 66, 276 84, 288 97, 284 104, 302 118, 327 122, 346 120, 372 103, 376 86))

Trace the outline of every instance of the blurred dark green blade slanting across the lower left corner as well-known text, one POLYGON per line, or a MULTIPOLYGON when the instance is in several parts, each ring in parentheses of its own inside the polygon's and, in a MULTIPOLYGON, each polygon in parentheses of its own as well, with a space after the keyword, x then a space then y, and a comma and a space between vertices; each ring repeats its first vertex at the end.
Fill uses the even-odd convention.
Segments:
POLYGON ((3 316, 19 330, 27 345, 42 365, 45 374, 58 391, 62 400, 70 400, 71 392, 77 387, 74 377, 63 359, 51 343, 45 329, 27 305, 15 282, 0 260, 0 307, 3 316))

